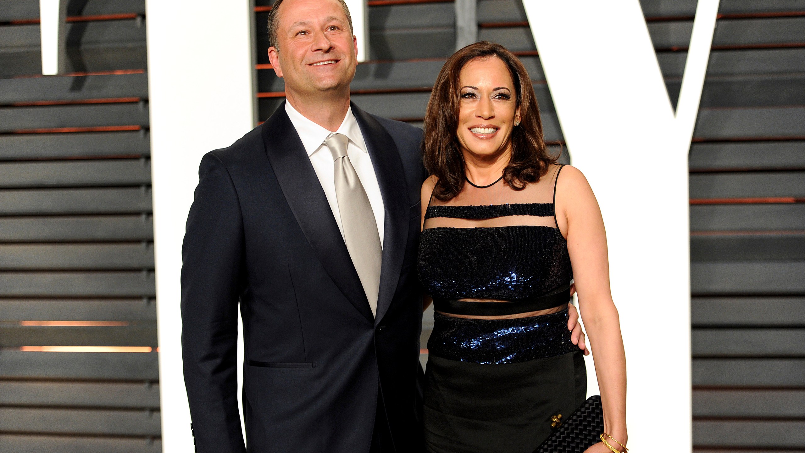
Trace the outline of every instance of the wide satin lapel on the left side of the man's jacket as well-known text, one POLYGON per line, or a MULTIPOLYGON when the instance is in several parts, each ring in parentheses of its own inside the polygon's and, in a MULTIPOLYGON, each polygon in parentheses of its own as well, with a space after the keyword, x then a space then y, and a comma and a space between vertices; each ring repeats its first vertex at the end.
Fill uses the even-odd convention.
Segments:
POLYGON ((336 218, 321 188, 316 170, 310 163, 302 141, 291 119, 281 104, 271 118, 262 125, 262 139, 266 143, 266 156, 291 206, 296 222, 313 247, 324 270, 341 292, 369 321, 372 309, 366 299, 361 280, 355 272, 349 251, 338 230, 336 218))

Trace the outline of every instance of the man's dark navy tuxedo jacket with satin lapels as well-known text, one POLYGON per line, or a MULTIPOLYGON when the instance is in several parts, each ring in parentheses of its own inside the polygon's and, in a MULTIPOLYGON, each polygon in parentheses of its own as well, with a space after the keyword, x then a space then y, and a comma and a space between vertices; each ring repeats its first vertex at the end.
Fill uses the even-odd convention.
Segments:
POLYGON ((182 351, 196 451, 422 451, 415 256, 422 131, 353 104, 386 209, 377 317, 285 108, 201 160, 184 237, 182 351), (245 336, 237 411, 237 307, 245 336))

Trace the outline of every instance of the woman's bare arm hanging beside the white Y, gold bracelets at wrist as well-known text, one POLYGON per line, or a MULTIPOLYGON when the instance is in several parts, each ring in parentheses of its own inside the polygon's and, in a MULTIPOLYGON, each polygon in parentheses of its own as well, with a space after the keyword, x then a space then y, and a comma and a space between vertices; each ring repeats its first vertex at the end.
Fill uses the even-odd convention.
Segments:
MULTIPOLYGON (((568 251, 592 359, 604 405, 604 430, 626 443, 626 358, 617 309, 609 289, 609 256, 604 220, 587 179, 566 166, 556 187, 559 230, 568 251)), ((617 445, 616 445, 617 447, 617 445)), ((588 451, 609 451, 599 443, 588 451)))

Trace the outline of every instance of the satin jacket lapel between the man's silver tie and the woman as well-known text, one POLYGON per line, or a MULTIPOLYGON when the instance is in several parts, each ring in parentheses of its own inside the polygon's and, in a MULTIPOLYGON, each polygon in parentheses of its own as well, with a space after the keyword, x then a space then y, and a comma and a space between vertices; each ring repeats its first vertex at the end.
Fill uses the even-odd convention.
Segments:
POLYGON ((365 111, 352 104, 353 114, 361 127, 369 157, 372 159, 374 174, 386 209, 383 226, 383 260, 380 270, 380 292, 377 324, 389 310, 391 300, 397 290, 403 258, 408 239, 408 190, 406 186, 403 160, 400 159, 397 145, 388 131, 365 111))

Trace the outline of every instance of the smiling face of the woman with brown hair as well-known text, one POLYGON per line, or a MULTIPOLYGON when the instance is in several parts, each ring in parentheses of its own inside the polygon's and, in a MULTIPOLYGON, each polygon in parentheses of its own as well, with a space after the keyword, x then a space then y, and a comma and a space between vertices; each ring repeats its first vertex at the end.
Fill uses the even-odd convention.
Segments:
POLYGON ((506 152, 504 143, 519 122, 514 80, 497 56, 477 58, 459 74, 458 141, 479 157, 506 152))

